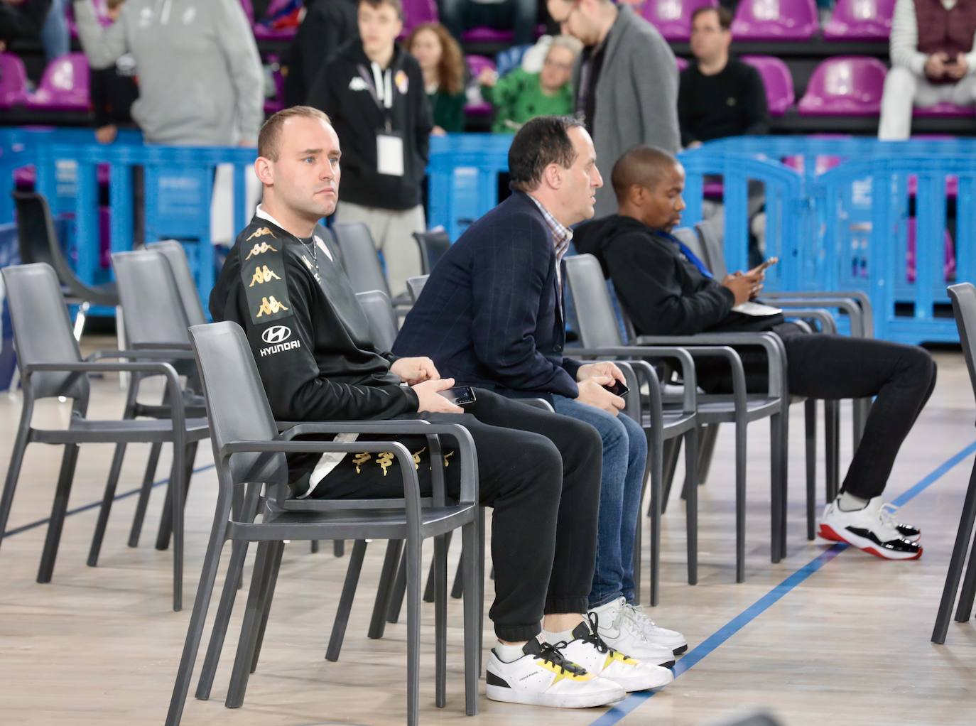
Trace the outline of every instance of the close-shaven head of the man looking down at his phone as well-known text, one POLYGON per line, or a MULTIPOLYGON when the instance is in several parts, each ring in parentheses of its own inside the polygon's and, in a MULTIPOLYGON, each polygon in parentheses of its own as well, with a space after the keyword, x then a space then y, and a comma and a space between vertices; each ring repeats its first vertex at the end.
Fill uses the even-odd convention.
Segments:
POLYGON ((624 217, 669 230, 681 221, 684 167, 664 149, 631 148, 614 164, 611 182, 624 217))

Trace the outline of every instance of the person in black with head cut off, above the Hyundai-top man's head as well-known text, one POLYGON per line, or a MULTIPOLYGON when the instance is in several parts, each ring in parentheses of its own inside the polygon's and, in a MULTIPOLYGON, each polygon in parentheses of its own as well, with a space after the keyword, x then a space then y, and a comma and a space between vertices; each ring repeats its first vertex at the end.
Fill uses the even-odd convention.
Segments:
POLYGON ((339 46, 359 36, 358 0, 307 0, 305 20, 288 52, 285 105, 305 103, 312 83, 339 46))

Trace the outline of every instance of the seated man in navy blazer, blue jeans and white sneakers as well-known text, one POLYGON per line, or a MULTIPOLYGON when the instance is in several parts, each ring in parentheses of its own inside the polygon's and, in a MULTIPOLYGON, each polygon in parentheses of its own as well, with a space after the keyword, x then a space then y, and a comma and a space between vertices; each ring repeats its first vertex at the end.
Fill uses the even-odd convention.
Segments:
MULTIPOLYGON (((640 661, 671 665, 687 642, 634 606, 633 540, 647 442, 620 416, 623 383, 610 362, 563 355, 562 257, 570 225, 593 216, 603 180, 583 123, 542 116, 508 150, 514 193, 474 222, 430 274, 393 345, 431 357, 442 376, 510 397, 543 397, 556 413, 590 423, 603 440, 596 571, 590 611, 600 637, 640 661), (419 352, 418 352, 419 351, 419 352)), ((554 643, 567 633, 544 636, 554 643)))

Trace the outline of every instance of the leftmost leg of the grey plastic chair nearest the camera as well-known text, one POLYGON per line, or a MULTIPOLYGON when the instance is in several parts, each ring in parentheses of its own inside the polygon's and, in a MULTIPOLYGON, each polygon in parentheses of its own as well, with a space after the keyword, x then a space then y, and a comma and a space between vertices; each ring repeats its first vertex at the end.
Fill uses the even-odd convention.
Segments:
MULTIPOLYGON (((230 503, 222 498, 218 502, 218 511, 214 519, 214 527, 210 533, 210 542, 207 544, 207 554, 203 560, 203 571, 200 573, 200 585, 196 588, 196 599, 193 601, 193 613, 189 619, 189 627, 186 631, 186 641, 183 643, 183 656, 180 659, 180 668, 177 670, 176 683, 173 686, 173 697, 170 700, 169 712, 166 714, 166 726, 179 726, 180 719, 183 717, 183 706, 186 704, 186 695, 189 693, 190 680, 193 677, 193 664, 196 663, 196 655, 200 650, 200 641, 203 639, 203 628, 206 625, 207 610, 210 607, 210 598, 214 591, 214 583, 217 580, 217 570, 221 565, 221 550, 224 548, 224 533, 227 527, 227 515, 230 512, 230 503)), ((230 573, 227 574, 230 578, 230 573)), ((224 625, 220 619, 214 624, 224 625)), ((224 633, 214 633, 223 642, 224 633)))

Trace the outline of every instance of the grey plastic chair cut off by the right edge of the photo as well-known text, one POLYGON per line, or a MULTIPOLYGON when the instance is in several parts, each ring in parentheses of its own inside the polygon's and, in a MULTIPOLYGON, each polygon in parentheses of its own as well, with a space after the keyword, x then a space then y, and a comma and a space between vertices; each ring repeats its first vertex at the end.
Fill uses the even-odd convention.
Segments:
MULTIPOLYGON (((953 301, 953 314, 956 316, 959 343, 962 345, 962 354, 965 356, 966 368, 969 370, 969 383, 973 393, 976 394, 976 287, 968 282, 952 285, 949 288, 949 297, 953 301)), ((942 589, 939 612, 935 618, 935 628, 932 630, 933 643, 946 642, 949 618, 956 604, 956 591, 959 588, 959 579, 962 577, 962 567, 966 563, 966 548, 972 537, 974 521, 976 521, 976 464, 973 464, 972 473, 969 475, 969 486, 966 489, 965 501, 962 503, 956 544, 953 545, 953 556, 949 560, 949 571, 946 573, 946 585, 942 589)), ((965 623, 972 617, 974 600, 976 600, 976 540, 969 552, 969 565, 966 567, 966 576, 962 581, 956 623, 965 623)))

